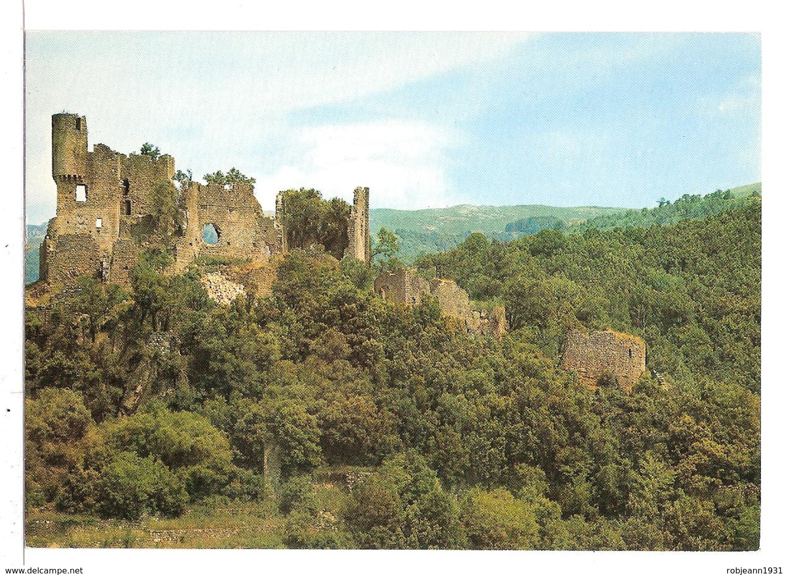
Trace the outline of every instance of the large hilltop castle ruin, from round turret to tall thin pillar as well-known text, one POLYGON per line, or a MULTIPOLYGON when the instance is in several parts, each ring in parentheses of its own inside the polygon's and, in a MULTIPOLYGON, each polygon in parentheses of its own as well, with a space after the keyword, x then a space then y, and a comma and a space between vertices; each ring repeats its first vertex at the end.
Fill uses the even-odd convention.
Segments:
MULTIPOLYGON (((57 216, 41 244, 39 277, 71 284, 78 276, 129 285, 129 270, 157 232, 163 195, 173 191, 175 161, 167 154, 121 154, 104 144, 87 150, 87 121, 73 113, 52 117, 52 177, 57 216)), ((369 188, 356 188, 345 254, 370 263, 369 188)), ((200 256, 242 258, 265 264, 287 251, 281 221, 263 213, 251 184, 198 184, 178 190, 180 217, 167 250, 172 269, 200 256), (212 228, 215 242, 203 239, 212 228)), ((277 205, 279 202, 277 202, 277 205)))

